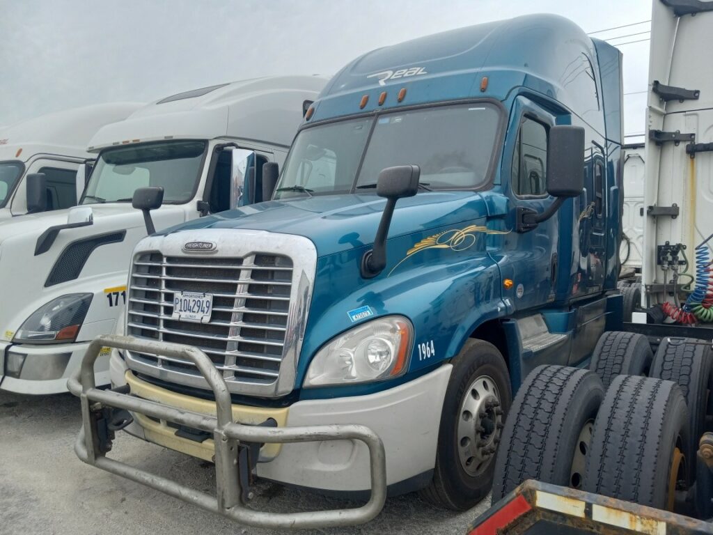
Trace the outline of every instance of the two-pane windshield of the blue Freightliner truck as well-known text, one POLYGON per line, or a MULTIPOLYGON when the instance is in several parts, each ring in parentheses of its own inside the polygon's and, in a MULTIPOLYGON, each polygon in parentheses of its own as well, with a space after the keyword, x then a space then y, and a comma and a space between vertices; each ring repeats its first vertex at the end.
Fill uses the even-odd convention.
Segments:
POLYGON ((496 106, 471 103, 307 128, 294 141, 275 198, 374 188, 379 172, 393 165, 419 165, 421 184, 431 190, 478 188, 488 180, 498 118, 496 106))

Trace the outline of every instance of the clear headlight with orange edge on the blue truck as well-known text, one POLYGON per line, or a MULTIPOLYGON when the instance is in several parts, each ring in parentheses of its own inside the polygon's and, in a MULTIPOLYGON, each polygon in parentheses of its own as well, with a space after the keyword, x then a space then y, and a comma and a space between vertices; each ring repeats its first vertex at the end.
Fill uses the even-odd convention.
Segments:
POLYGON ((304 387, 397 377, 409 367, 414 327, 402 316, 363 323, 333 338, 314 355, 304 387))

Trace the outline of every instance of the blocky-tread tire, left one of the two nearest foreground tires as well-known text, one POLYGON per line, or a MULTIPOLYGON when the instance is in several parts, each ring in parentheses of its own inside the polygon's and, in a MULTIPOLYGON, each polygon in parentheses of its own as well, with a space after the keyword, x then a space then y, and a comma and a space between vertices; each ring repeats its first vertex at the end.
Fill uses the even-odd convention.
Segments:
POLYGON ((579 488, 604 387, 594 372, 538 366, 513 401, 498 448, 493 502, 525 479, 579 488))

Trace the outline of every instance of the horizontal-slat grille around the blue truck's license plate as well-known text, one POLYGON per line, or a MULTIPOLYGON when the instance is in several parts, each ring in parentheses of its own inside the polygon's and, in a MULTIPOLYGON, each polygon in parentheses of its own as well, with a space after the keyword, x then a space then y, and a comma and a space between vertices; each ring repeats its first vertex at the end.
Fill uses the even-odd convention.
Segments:
MULTIPOLYGON (((223 372, 229 387, 273 384, 283 360, 292 271, 292 260, 284 255, 140 253, 130 275, 127 333, 200 348, 223 372), (173 319, 174 292, 211 294, 210 322, 173 319)), ((158 377, 183 384, 196 384, 200 377, 188 361, 144 353, 129 356, 141 368, 155 369, 158 377)))

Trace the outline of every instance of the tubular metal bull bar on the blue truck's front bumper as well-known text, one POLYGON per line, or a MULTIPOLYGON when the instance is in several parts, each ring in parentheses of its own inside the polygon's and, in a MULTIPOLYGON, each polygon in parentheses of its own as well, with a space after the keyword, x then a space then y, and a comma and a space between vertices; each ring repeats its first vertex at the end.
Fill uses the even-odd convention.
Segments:
POLYGON ((133 337, 118 335, 99 336, 89 345, 80 369, 68 379, 67 387, 72 394, 81 399, 82 428, 74 446, 74 451, 79 459, 112 474, 150 486, 152 489, 197 505, 206 511, 226 516, 240 524, 282 529, 351 526, 374 519, 384 507, 386 501, 386 457, 384 444, 376 433, 368 427, 354 424, 276 428, 233 422, 232 402, 225 380, 207 355, 196 347, 137 340, 133 337), (170 407, 130 394, 97 389, 94 381, 94 362, 103 347, 165 355, 193 362, 215 394, 216 416, 170 407), (149 417, 168 420, 211 433, 215 441, 216 496, 191 489, 171 479, 150 474, 106 457, 101 447, 102 438, 97 417, 104 407, 138 412, 149 417), (344 439, 359 440, 369 447, 371 496, 366 504, 352 509, 299 513, 268 513, 256 511, 247 506, 249 500, 245 498, 247 493, 241 486, 239 473, 238 450, 240 442, 284 444, 344 439))

